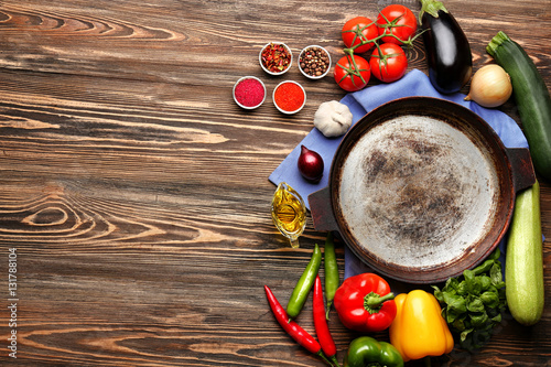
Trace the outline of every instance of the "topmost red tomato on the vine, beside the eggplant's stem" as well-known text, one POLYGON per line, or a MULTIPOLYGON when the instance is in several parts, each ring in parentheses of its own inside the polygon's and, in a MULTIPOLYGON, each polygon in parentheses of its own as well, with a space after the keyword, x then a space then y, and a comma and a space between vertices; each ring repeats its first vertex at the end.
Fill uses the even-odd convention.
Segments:
POLYGON ((377 29, 379 35, 393 34, 393 36, 383 36, 382 42, 402 44, 408 41, 417 31, 417 19, 413 12, 400 4, 391 4, 382 9, 377 17, 377 29))

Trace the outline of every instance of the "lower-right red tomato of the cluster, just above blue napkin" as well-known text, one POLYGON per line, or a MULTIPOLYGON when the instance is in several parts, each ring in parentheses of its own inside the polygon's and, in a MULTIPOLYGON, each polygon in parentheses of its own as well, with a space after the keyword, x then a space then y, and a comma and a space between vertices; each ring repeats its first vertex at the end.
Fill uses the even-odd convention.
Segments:
POLYGON ((406 53, 402 47, 395 43, 383 43, 379 48, 375 48, 371 58, 369 58, 371 74, 381 82, 398 80, 406 74, 408 68, 406 53))

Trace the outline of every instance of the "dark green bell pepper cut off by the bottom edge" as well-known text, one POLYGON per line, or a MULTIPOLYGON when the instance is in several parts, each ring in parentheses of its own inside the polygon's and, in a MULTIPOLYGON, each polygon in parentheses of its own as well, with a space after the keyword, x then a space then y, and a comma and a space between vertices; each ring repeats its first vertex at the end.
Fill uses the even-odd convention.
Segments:
POLYGON ((344 365, 345 367, 403 367, 403 359, 392 344, 378 342, 370 336, 360 336, 352 341, 348 346, 344 365))

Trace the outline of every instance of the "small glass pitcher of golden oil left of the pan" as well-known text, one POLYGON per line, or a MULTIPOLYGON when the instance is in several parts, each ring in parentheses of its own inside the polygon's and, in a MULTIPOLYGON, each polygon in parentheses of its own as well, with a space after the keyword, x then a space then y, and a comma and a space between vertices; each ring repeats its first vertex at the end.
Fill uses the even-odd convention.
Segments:
POLYGON ((279 231, 299 247, 299 237, 306 227, 306 206, 301 195, 285 182, 278 185, 272 198, 272 219, 279 231))

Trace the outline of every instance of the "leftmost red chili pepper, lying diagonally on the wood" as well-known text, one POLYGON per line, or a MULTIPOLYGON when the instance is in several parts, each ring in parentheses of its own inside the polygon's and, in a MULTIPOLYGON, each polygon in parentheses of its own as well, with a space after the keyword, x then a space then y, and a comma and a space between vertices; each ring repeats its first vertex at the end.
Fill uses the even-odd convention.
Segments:
POLYGON ((289 321, 285 309, 279 303, 276 295, 273 295, 271 289, 264 285, 266 296, 268 298, 268 303, 272 310, 273 315, 278 323, 283 327, 283 330, 291 336, 296 343, 306 348, 310 353, 316 354, 324 359, 329 366, 332 364, 325 357, 322 352, 322 347, 317 341, 310 335, 304 328, 302 328, 296 322, 289 321))

